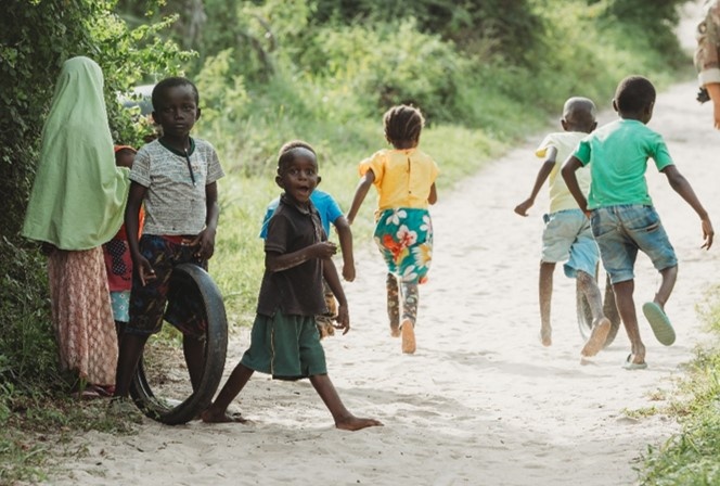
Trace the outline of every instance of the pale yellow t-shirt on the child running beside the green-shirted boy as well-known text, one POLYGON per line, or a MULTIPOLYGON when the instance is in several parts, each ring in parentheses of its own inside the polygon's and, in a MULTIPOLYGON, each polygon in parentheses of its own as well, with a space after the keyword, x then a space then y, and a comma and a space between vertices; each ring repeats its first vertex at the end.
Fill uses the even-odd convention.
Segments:
MULTIPOLYGON (((550 213, 556 213, 564 209, 577 209, 578 203, 570 194, 570 191, 565 184, 565 179, 560 175, 560 168, 563 163, 573 155, 575 149, 588 133, 581 131, 560 131, 550 133, 540 143, 540 146, 535 151, 535 154, 540 158, 545 158, 548 149, 554 146, 557 149, 557 156, 555 157, 555 167, 553 167, 550 176, 548 177, 548 184, 550 187, 550 213)), ((575 172, 580 184, 580 190, 588 196, 590 191, 590 169, 588 166, 578 169, 575 172)))

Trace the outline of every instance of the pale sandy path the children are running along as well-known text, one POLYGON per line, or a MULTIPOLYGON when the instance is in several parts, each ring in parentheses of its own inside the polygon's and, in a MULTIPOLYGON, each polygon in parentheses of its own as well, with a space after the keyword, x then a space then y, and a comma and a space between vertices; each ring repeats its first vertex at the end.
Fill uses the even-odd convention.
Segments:
MULTIPOLYGON (((686 82, 660 94, 650 125, 664 133, 720 228, 720 133, 711 129, 710 106, 695 102, 695 91, 686 82)), ((603 114, 603 120, 613 117, 603 114)), ((679 431, 661 410, 682 364, 707 338, 696 307, 718 283, 720 247, 700 250, 697 216, 651 168, 651 194, 680 260, 667 305, 676 344, 657 343, 640 312, 658 283, 641 255, 635 300, 646 370, 621 368, 629 353, 622 329, 610 347, 580 363, 575 283, 560 268, 554 343, 541 346, 537 271, 547 199, 527 218, 513 213, 539 167, 532 149, 540 138, 439 194, 415 355, 402 355, 399 340, 389 336, 384 267, 368 242, 357 242, 358 279, 345 285, 352 330, 323 343, 330 375, 348 408, 382 420, 384 427, 337 431, 307 381, 256 374, 233 404, 250 424, 165 426, 145 420, 137 435, 87 433, 72 446, 87 450, 66 459, 48 484, 633 484, 648 445, 660 446, 679 431), (629 412, 651 407, 660 411, 629 412)), ((233 335, 226 373, 247 344, 248 330, 233 335)))

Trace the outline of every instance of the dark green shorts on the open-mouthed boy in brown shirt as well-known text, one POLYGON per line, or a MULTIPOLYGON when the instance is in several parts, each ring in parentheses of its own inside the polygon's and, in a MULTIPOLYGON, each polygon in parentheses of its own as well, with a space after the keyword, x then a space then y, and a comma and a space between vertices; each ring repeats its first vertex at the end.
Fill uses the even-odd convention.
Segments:
POLYGON ((250 347, 240 362, 277 380, 327 374, 314 316, 258 314, 253 322, 250 347))

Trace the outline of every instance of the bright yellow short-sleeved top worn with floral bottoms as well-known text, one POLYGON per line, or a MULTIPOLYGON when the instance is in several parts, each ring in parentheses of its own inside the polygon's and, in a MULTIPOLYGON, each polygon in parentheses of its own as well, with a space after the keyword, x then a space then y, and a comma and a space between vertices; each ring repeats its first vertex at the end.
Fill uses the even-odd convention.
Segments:
POLYGON ((368 170, 375 175, 377 212, 410 207, 427 208, 430 187, 437 179, 437 164, 427 154, 415 149, 385 149, 360 163, 360 176, 368 170))

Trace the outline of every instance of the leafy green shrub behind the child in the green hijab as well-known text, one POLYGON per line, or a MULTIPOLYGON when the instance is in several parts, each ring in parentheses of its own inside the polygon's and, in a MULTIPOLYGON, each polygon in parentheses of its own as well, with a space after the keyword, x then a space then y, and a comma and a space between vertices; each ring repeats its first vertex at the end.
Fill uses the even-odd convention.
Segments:
POLYGON ((112 0, 3 3, 0 16, 0 380, 22 392, 64 386, 50 325, 44 258, 20 238, 40 132, 62 63, 88 55, 101 65, 110 125, 117 141, 139 144, 142 132, 118 102, 144 76, 175 73, 190 54, 159 36, 171 22, 133 30, 112 0))

